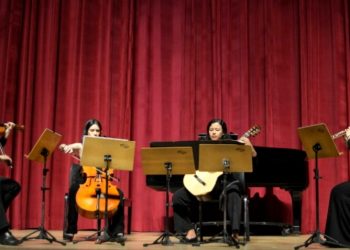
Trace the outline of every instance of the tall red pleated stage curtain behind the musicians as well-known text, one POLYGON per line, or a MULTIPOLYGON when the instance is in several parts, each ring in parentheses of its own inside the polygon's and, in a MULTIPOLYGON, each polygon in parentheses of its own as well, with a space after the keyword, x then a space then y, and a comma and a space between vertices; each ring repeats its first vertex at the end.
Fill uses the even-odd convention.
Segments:
MULTIPOLYGON (((44 128, 71 143, 94 117, 104 135, 136 141, 134 171, 117 173, 133 200, 133 231, 163 230, 164 193, 146 187, 140 162, 151 141, 194 140, 213 117, 238 134, 260 124, 252 141, 269 147, 301 149, 304 125, 346 128, 349 24, 346 0, 0 1, 0 118, 25 125, 5 148, 15 169, 0 171, 23 187, 13 227, 40 224, 42 166, 23 156, 44 128)), ((349 179, 348 152, 336 142, 344 155, 320 161, 322 230, 330 189, 349 179)), ((48 162, 50 229, 62 228, 73 161, 57 151, 48 162)), ((304 233, 315 229, 313 168, 311 160, 304 233)), ((291 222, 289 194, 273 194, 291 222)))

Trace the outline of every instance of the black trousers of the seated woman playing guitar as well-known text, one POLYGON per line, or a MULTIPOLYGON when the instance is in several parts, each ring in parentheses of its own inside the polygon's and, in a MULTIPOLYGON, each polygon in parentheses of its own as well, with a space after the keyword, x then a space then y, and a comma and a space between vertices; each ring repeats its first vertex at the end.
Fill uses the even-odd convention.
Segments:
MULTIPOLYGON (((228 184, 234 181, 229 179, 228 184)), ((219 199, 222 194, 222 178, 220 177, 214 190, 210 193, 213 199, 219 199)), ((242 202, 241 188, 239 183, 230 184, 227 190, 227 217, 231 222, 232 232, 238 232, 241 220, 242 202)), ((191 218, 195 209, 198 208, 198 199, 185 187, 178 189, 173 195, 174 226, 177 233, 183 234, 194 229, 191 218)), ((217 211, 213 211, 217 212, 217 211)))

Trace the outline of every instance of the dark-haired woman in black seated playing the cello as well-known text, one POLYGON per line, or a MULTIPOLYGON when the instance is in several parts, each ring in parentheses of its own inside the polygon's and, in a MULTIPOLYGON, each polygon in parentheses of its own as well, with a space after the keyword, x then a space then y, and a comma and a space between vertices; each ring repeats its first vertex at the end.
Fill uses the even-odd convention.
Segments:
MULTIPOLYGON (((102 126, 98 120, 90 119, 85 123, 83 136, 101 136, 102 126)), ((61 144, 60 149, 75 157, 80 158, 82 153, 82 143, 77 142, 73 144, 61 144)), ((83 167, 78 164, 73 164, 70 172, 69 181, 69 192, 68 192, 68 213, 67 213, 67 228, 64 229, 63 239, 66 241, 72 241, 74 234, 78 232, 78 210, 76 195, 79 191, 80 184, 86 181, 86 174, 83 171, 83 167)), ((124 204, 123 204, 123 193, 120 189, 119 197, 120 202, 117 211, 112 215, 110 223, 107 229, 107 233, 101 234, 96 243, 102 243, 105 241, 116 241, 118 243, 123 243, 125 241, 124 237, 124 204)))

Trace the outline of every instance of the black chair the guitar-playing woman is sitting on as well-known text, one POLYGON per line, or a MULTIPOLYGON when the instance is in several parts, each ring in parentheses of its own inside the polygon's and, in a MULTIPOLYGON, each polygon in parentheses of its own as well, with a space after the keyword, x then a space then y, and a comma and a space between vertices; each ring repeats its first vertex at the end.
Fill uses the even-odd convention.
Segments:
MULTIPOLYGON (((239 180, 239 187, 242 195, 242 228, 243 228, 243 243, 245 244, 250 240, 250 228, 249 228, 249 199, 246 195, 245 178, 244 173, 233 174, 237 180, 239 180)), ((219 210, 220 200, 199 200, 198 205, 198 222, 195 223, 195 227, 198 229, 197 234, 199 235, 200 242, 203 242, 203 227, 204 226, 223 226, 223 220, 215 218, 215 220, 203 221, 203 205, 215 204, 219 210)), ((214 208, 215 209, 215 208, 214 208)), ((230 221, 226 221, 226 225, 230 224, 230 221)))

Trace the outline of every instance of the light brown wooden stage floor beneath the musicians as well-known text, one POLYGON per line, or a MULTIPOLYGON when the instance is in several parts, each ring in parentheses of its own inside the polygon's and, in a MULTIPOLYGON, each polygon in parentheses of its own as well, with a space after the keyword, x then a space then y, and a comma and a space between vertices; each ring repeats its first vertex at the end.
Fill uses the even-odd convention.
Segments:
MULTIPOLYGON (((34 230, 12 230, 12 233, 15 237, 21 238, 25 235, 33 232, 34 230)), ((57 240, 62 240, 62 231, 50 231, 49 233, 54 235, 57 240)), ((85 237, 93 234, 92 231, 80 231, 75 235, 75 240, 83 240, 85 237)), ((144 243, 154 242, 162 233, 131 233, 127 236, 127 241, 125 245, 122 246, 115 242, 105 242, 101 245, 95 244, 93 241, 82 241, 76 244, 67 243, 63 246, 59 243, 53 242, 50 243, 44 239, 33 239, 24 241, 19 246, 1 246, 0 249, 125 249, 125 250, 139 250, 139 249, 166 249, 166 250, 183 250, 183 249, 210 249, 210 250, 221 250, 227 248, 236 249, 234 246, 228 246, 224 243, 210 243, 203 244, 200 246, 184 245, 178 244, 179 240, 175 237, 170 237, 170 240, 175 243, 173 245, 149 245, 144 247, 144 243)), ((34 233, 32 236, 38 236, 38 233, 34 233)), ((310 237, 310 235, 289 235, 289 236, 251 236, 250 241, 244 245, 240 246, 239 249, 243 250, 266 250, 266 249, 277 249, 277 250, 294 250, 295 246, 301 245, 310 237)), ((320 244, 313 243, 307 248, 301 247, 302 249, 327 249, 320 244)), ((336 248, 332 248, 336 249, 336 248)), ((344 248, 339 248, 344 249, 344 248)))

